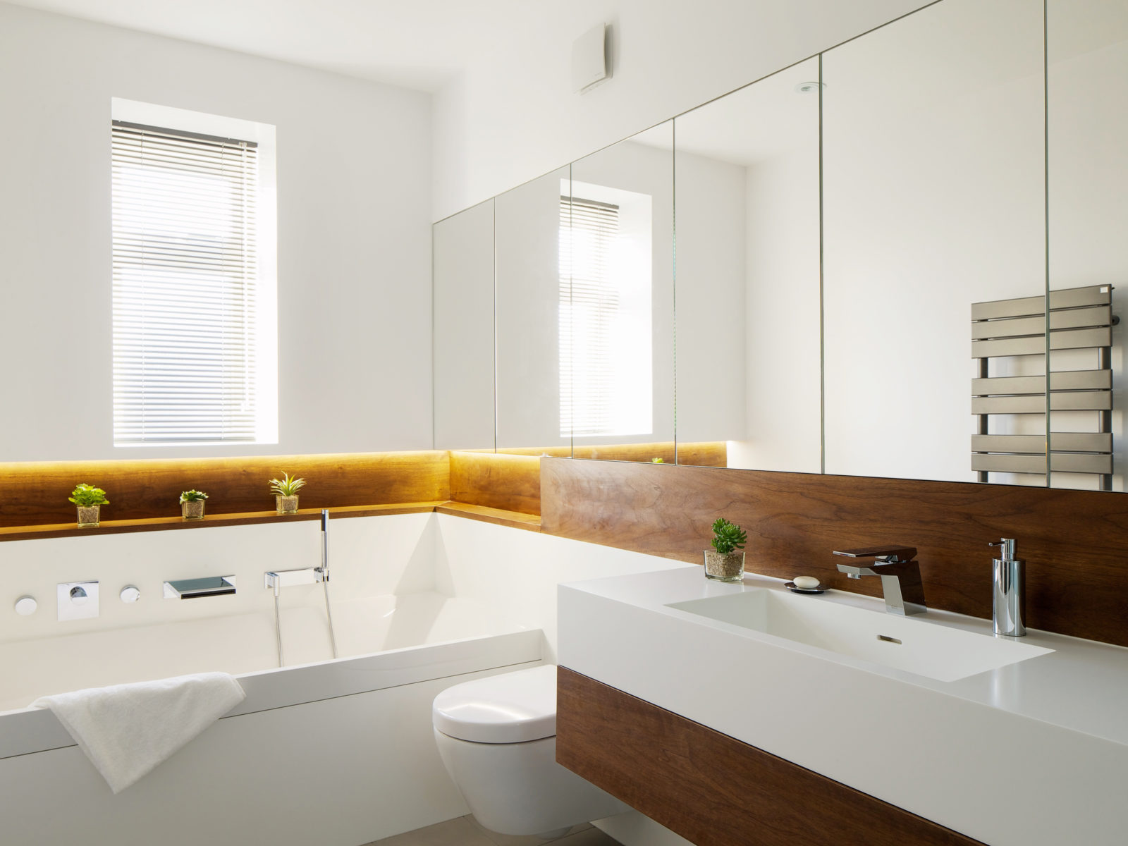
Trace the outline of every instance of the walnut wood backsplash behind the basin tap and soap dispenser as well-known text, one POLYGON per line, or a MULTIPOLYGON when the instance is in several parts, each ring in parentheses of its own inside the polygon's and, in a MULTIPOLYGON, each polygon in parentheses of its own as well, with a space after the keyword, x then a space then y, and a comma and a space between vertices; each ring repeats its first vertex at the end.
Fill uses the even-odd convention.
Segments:
POLYGON ((915 546, 928 607, 986 618, 996 555, 987 543, 1016 538, 1026 559, 1029 626, 1128 646, 1128 497, 1118 494, 541 461, 545 532, 700 563, 716 517, 748 531, 748 570, 810 574, 871 596, 880 596, 879 580, 848 580, 831 553, 915 546))

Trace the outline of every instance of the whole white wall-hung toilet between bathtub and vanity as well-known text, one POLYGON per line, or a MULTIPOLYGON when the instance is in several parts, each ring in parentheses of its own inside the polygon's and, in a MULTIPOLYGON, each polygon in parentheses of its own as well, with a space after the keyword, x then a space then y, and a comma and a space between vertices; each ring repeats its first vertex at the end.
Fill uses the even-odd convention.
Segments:
POLYGON ((455 685, 431 715, 447 772, 488 829, 557 835, 631 810, 556 763, 554 666, 455 685))

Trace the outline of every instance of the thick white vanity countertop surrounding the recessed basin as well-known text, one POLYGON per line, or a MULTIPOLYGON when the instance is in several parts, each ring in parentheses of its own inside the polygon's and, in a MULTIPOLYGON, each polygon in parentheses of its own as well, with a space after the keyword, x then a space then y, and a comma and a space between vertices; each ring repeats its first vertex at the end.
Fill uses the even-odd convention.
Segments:
POLYGON ((694 565, 563 584, 559 663, 984 843, 1128 843, 1128 649, 1030 631, 1052 652, 937 681, 668 607, 761 589, 786 590, 694 565))

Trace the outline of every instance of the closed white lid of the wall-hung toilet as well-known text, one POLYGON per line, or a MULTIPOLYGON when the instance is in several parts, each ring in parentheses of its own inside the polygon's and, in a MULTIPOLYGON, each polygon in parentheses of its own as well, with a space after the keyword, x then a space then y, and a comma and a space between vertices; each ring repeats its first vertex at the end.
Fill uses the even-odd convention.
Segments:
POLYGON ((521 743, 556 734, 556 667, 503 672, 448 687, 431 706, 434 728, 477 743, 521 743))

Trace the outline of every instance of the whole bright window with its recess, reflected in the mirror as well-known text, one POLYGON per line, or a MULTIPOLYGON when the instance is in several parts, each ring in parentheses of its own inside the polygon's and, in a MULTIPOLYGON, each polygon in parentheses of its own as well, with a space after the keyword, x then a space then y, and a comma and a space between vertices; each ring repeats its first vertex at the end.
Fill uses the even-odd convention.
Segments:
POLYGON ((561 437, 651 434, 651 197, 562 180, 561 437))

